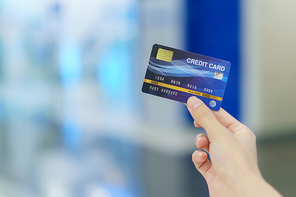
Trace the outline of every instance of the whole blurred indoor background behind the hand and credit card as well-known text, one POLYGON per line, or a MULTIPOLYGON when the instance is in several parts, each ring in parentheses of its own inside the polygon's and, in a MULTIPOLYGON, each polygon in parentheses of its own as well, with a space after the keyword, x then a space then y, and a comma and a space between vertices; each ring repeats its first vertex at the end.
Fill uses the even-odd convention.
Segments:
POLYGON ((0 196, 208 196, 186 107, 141 86, 155 43, 232 62, 222 107, 296 196, 293 0, 0 0, 0 196))

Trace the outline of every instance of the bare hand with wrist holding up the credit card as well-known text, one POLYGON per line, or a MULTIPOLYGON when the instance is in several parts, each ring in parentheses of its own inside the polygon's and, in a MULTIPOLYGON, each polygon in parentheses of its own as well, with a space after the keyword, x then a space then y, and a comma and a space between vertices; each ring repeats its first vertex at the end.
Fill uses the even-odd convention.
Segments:
POLYGON ((190 97, 187 108, 196 127, 207 135, 195 139, 197 150, 192 155, 196 169, 207 181, 210 196, 281 196, 261 176, 256 150, 256 137, 245 125, 225 110, 212 112, 201 100, 190 97))

